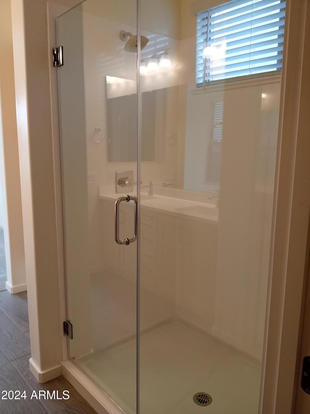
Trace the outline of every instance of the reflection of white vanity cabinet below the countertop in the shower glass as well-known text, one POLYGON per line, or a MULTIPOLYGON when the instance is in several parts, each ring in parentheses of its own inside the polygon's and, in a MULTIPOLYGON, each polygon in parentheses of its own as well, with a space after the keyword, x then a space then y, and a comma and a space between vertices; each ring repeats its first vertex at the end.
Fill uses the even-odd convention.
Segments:
MULTIPOLYGON (((114 202, 102 200, 104 267, 136 283, 137 243, 114 242, 114 202)), ((120 237, 131 237, 134 206, 120 206, 120 237)), ((140 207, 141 329, 177 317, 211 331, 217 264, 217 223, 140 207)))

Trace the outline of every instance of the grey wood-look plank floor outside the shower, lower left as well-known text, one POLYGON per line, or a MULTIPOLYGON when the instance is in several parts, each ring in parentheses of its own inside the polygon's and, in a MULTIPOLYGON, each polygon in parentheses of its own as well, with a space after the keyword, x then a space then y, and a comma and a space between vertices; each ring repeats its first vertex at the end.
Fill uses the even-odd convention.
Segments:
POLYGON ((0 292, 0 413, 96 414, 63 376, 39 384, 29 370, 30 352, 27 293, 11 295, 8 291, 2 291, 0 292), (63 394, 64 390, 69 391, 70 397, 57 399, 57 396, 59 398, 67 396, 67 393, 63 394), (5 391, 14 393, 6 395, 5 391), (25 393, 22 395, 23 391, 25 393), (9 399, 12 396, 21 399, 9 399), (44 396, 51 396, 52 399, 44 399, 44 396))

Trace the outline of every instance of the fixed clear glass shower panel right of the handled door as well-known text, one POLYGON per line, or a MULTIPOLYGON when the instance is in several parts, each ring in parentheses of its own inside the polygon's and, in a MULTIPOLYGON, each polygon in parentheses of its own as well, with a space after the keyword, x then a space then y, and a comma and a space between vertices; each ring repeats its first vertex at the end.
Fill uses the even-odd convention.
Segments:
POLYGON ((203 3, 141 2, 141 414, 259 411, 280 75, 197 88, 203 3))

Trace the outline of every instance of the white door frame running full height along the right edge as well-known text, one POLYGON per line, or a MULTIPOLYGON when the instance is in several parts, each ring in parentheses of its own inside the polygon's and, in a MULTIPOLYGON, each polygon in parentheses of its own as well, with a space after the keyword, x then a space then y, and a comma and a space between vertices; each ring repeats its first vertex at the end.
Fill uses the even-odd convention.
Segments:
POLYGON ((294 413, 310 209, 310 1, 287 0, 262 412, 294 413))

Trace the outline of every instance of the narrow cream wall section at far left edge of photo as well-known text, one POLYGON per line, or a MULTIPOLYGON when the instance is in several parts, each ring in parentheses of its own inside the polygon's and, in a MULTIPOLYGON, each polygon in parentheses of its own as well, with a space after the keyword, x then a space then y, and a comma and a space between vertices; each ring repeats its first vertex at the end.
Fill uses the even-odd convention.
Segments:
POLYGON ((15 80, 10 0, 0 4, 0 176, 2 225, 10 293, 26 290, 23 218, 21 209, 18 143, 16 127, 15 80))

